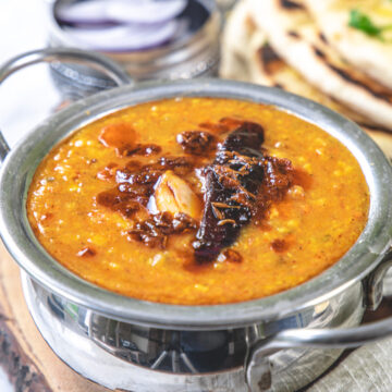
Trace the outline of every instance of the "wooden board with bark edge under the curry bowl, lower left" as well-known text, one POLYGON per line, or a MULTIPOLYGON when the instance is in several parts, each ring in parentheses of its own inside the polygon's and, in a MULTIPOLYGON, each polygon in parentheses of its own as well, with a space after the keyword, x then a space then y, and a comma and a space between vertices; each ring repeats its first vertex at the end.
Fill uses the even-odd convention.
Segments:
POLYGON ((103 392, 69 368, 38 332, 24 302, 20 269, 0 244, 0 364, 15 391, 103 392))

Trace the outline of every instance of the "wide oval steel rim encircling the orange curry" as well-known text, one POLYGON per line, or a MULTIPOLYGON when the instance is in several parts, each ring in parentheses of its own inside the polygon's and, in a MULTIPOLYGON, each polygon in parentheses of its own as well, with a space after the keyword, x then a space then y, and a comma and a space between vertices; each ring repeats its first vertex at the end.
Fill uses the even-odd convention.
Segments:
POLYGON ((50 117, 11 150, 0 171, 0 235, 16 262, 39 284, 98 314, 126 322, 182 330, 244 327, 280 319, 328 301, 364 279, 381 261, 392 237, 392 169, 355 123, 306 98, 278 88, 224 79, 143 83, 106 90, 50 117), (284 292, 223 305, 169 305, 126 297, 96 286, 56 261, 38 243, 26 217, 26 195, 41 159, 72 132, 113 111, 173 97, 216 97, 267 103, 293 113, 341 140, 357 159, 370 192, 366 228, 332 267, 284 292))

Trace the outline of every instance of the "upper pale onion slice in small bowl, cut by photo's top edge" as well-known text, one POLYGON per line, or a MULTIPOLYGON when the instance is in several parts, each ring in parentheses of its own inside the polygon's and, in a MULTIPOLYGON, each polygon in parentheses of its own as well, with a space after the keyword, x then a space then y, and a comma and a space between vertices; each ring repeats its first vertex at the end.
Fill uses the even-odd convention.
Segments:
POLYGON ((177 16, 188 0, 89 0, 59 8, 57 20, 69 25, 157 24, 177 16))

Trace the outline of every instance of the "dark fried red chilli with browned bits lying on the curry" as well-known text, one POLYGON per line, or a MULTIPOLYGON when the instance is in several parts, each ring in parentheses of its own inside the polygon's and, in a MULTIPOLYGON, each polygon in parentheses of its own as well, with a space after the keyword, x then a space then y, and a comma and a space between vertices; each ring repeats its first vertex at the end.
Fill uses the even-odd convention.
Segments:
POLYGON ((235 242, 242 226, 291 186, 291 162, 266 156, 260 150, 262 143, 262 126, 244 122, 226 137, 213 163, 205 169, 206 204, 193 243, 198 262, 216 259, 222 248, 235 242))

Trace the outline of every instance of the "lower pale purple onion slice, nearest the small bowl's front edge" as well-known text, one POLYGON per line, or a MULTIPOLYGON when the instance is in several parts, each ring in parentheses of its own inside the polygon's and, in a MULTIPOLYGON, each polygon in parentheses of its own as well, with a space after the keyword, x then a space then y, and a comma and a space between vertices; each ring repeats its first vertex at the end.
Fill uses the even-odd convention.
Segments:
POLYGON ((177 21, 159 25, 121 25, 106 28, 64 28, 72 44, 100 51, 132 51, 159 46, 174 36, 177 21))

